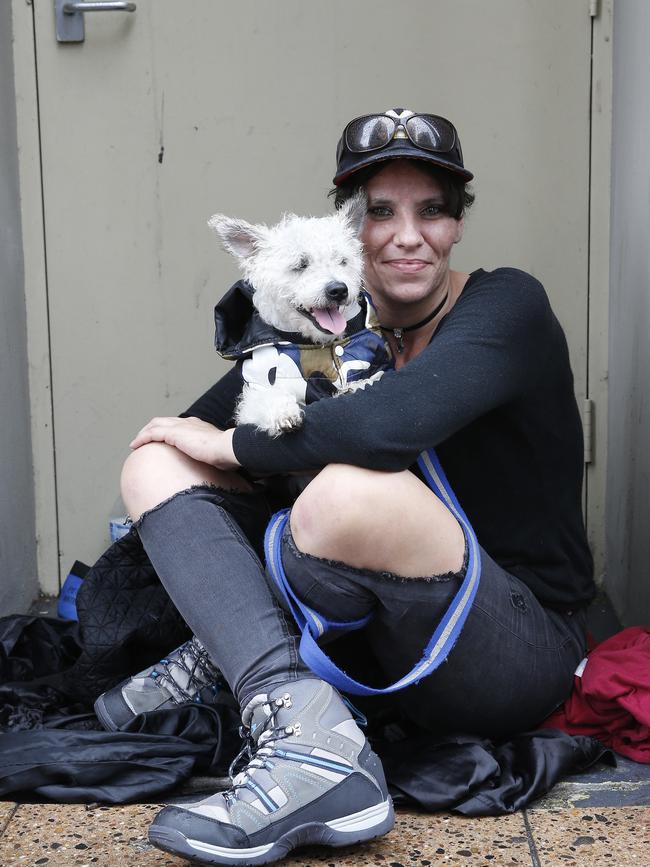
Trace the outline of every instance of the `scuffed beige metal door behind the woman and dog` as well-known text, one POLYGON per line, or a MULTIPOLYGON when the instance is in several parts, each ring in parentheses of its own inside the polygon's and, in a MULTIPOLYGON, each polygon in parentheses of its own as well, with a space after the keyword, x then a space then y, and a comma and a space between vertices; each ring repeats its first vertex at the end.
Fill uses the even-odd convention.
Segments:
POLYGON ((354 115, 406 105, 454 120, 477 193, 454 264, 544 282, 584 396, 586 3, 136 6, 87 12, 85 41, 59 43, 53 0, 14 5, 33 13, 37 69, 47 293, 28 287, 28 304, 48 332, 31 352, 40 339, 51 364, 51 403, 42 376, 32 393, 46 587, 55 537, 63 569, 104 548, 133 433, 223 370, 212 307, 235 270, 207 217, 325 212, 354 115), (42 505, 54 500, 56 524, 42 505))

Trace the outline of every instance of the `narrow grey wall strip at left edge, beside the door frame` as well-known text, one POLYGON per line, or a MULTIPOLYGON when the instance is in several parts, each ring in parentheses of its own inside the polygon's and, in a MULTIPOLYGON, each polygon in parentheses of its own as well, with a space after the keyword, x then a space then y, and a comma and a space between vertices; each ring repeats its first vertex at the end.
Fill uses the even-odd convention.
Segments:
POLYGON ((0 3, 0 616, 38 594, 11 32, 0 3))

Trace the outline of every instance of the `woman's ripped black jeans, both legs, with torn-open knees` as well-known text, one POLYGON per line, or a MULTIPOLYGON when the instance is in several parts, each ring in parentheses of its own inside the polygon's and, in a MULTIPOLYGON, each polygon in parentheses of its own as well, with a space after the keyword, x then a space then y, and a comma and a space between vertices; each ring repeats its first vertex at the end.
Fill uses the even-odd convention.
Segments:
MULTIPOLYGON (((258 556, 268 518, 261 495, 200 486, 138 522, 167 592, 242 704, 273 685, 310 676, 291 616, 258 556)), ((356 642, 362 658, 337 657, 373 686, 392 683, 421 658, 463 578, 461 572, 404 579, 312 557, 296 548, 288 525, 282 555, 299 597, 328 619, 373 613, 356 642)), ((432 731, 499 737, 530 729, 569 694, 584 655, 584 612, 545 609, 483 551, 481 564, 477 596, 449 657, 392 699, 432 731)), ((336 654, 336 644, 328 652, 336 654)))

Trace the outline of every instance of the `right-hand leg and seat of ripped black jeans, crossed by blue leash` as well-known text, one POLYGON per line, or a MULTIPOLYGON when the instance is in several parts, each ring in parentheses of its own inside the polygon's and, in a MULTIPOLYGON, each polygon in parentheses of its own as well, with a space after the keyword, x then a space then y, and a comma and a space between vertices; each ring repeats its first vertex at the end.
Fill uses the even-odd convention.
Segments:
MULTIPOLYGON (((341 661, 349 674, 374 669, 372 686, 393 683, 421 659, 464 578, 461 571, 404 579, 312 557, 296 548, 288 526, 282 556, 299 598, 328 620, 373 612, 363 630, 369 659, 341 661)), ((585 654, 585 619, 584 611, 544 608, 481 549, 481 582, 447 660, 393 700, 431 731, 500 737, 533 728, 571 691, 585 654)))

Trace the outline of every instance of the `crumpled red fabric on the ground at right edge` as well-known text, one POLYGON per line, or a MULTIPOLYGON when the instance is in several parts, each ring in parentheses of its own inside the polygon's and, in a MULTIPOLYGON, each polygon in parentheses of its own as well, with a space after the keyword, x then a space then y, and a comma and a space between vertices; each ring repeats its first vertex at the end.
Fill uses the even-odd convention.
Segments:
POLYGON ((632 626, 598 644, 562 707, 542 723, 590 735, 650 764, 650 629, 632 626))

